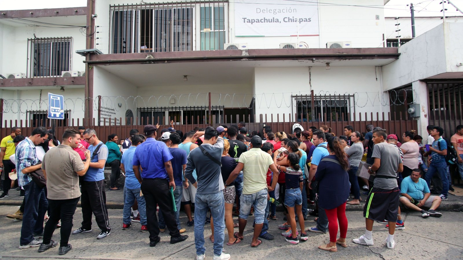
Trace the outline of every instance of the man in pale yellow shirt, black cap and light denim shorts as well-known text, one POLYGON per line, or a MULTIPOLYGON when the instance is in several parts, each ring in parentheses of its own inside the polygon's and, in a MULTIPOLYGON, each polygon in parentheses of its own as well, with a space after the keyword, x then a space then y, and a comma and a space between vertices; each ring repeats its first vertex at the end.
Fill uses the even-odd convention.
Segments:
MULTIPOLYGON (((231 183, 238 176, 238 173, 243 170, 244 185, 243 194, 240 199, 239 211, 239 232, 235 233, 235 237, 243 239, 244 228, 246 227, 248 216, 251 212, 251 206, 254 206, 254 236, 252 238, 251 247, 259 246, 262 241, 257 239, 261 235, 265 210, 267 208, 267 196, 270 191, 273 191, 278 180, 278 169, 276 168, 272 157, 260 149, 262 146, 262 138, 253 136, 251 138, 251 149, 239 156, 238 165, 225 181, 231 183), (274 173, 272 186, 267 186, 267 172, 270 170, 274 173)), ((215 223, 215 219, 214 219, 215 223)))

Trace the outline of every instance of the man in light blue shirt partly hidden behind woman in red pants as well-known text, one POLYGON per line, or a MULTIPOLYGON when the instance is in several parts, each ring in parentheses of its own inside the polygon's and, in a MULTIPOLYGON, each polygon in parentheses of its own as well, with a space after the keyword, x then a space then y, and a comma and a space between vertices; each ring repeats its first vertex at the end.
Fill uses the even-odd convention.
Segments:
MULTIPOLYGON (((313 150, 312 154, 312 161, 310 165, 310 170, 309 170, 309 188, 313 189, 317 186, 316 182, 312 183, 313 177, 315 176, 315 173, 317 172, 317 167, 321 161, 321 159, 325 156, 330 155, 330 152, 328 152, 328 142, 326 142, 326 138, 332 137, 330 133, 324 133, 322 130, 317 130, 313 132, 312 138, 313 138, 313 145, 316 146, 316 148, 313 150), (329 136, 327 136, 329 135, 329 136)), ((325 210, 319 207, 319 217, 317 219, 317 226, 312 227, 308 229, 309 231, 312 232, 318 232, 318 233, 326 233, 328 232, 328 217, 326 217, 325 210)))

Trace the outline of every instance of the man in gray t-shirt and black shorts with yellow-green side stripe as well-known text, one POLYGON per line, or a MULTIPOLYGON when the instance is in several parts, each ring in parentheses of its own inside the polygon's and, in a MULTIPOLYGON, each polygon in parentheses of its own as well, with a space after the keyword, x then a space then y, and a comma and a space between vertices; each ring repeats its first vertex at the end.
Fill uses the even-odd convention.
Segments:
POLYGON ((389 235, 386 239, 386 246, 394 248, 394 231, 397 213, 399 209, 400 189, 397 185, 396 173, 403 170, 402 158, 397 148, 388 144, 387 135, 384 129, 373 130, 373 142, 375 149, 371 158, 374 159, 369 173, 375 174, 374 187, 371 189, 363 208, 363 216, 366 218, 365 235, 353 239, 354 243, 366 246, 373 245, 373 223, 375 221, 388 221, 389 235))

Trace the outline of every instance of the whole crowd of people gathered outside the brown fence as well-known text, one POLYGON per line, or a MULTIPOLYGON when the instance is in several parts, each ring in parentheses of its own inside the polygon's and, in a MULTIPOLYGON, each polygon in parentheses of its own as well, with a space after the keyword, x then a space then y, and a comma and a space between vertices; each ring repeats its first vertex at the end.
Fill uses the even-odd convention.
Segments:
POLYGON ((166 228, 174 244, 188 239, 182 234, 194 226, 198 260, 205 257, 205 240, 213 242, 214 260, 230 259, 223 252, 224 243, 244 241, 251 215, 251 247, 275 239, 268 232, 269 221, 277 220, 280 204, 284 223, 278 228, 289 243, 307 241, 309 231, 329 233, 329 243, 319 246, 322 250, 347 247, 346 204, 364 202, 365 234, 352 241, 373 245, 377 221, 387 223, 385 243, 394 248, 395 229, 405 229, 400 204, 423 218, 441 217, 438 207, 453 189, 449 166, 456 164, 463 179, 462 125, 450 140, 443 137, 441 127, 428 126, 425 141, 414 130, 399 138, 371 124, 364 133, 347 125, 342 136, 326 125, 304 130, 294 124, 290 133, 274 132, 268 125, 249 133, 245 126, 240 122, 184 134, 173 124, 160 131, 159 125, 146 125, 141 134, 133 129, 121 142, 112 134, 106 143, 94 129, 83 127, 65 130, 61 142, 44 127, 27 137, 13 127, 0 144, 4 180, 0 199, 7 198, 17 182, 23 204, 7 217, 23 221, 19 248, 39 247, 38 252, 44 252, 56 247, 51 238, 60 228, 58 254, 66 254, 72 248, 71 233, 92 231, 92 215, 100 229, 96 238, 110 235, 105 166, 111 168, 109 192, 119 190, 117 180, 125 176, 122 229, 139 222, 140 231, 149 232, 150 247, 155 247, 166 228), (364 168, 369 179, 359 177, 364 168), (72 231, 79 200, 83 220, 72 231), (180 222, 181 207, 188 218, 186 226, 180 222), (317 217, 316 225, 306 229, 309 215, 317 217), (212 235, 205 239, 207 223, 212 235))

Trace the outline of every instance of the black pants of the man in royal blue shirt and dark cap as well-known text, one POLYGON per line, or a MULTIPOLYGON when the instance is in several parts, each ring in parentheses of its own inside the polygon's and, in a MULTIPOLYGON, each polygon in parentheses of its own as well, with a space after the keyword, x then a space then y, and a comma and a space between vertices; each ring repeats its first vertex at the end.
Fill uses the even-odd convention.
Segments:
POLYGON ((143 179, 141 189, 146 201, 146 220, 148 221, 150 241, 155 241, 159 235, 156 204, 163 211, 163 217, 170 236, 179 237, 180 233, 175 221, 172 196, 169 191, 169 181, 166 179, 143 179))

